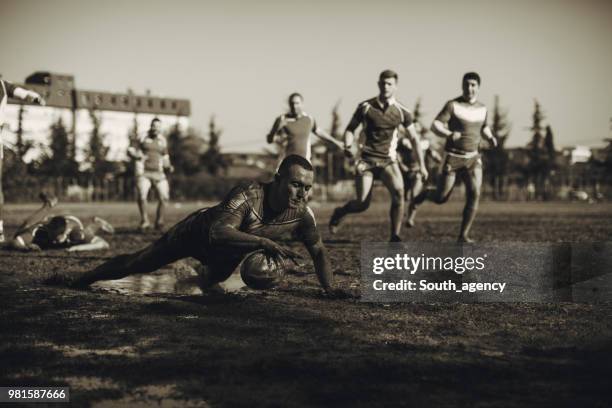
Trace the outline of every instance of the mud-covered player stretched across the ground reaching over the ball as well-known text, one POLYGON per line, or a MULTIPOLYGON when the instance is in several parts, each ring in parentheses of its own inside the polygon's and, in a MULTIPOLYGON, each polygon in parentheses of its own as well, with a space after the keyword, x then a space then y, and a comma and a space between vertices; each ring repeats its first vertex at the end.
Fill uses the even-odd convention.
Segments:
POLYGON ((329 292, 333 280, 331 266, 314 214, 306 205, 313 177, 308 160, 287 156, 273 182, 239 184, 221 203, 190 214, 146 248, 110 259, 77 277, 69 286, 80 288, 99 280, 153 272, 179 259, 193 257, 204 265, 202 286, 211 287, 229 278, 253 251, 264 250, 281 260, 299 257, 274 242, 293 234, 308 249, 319 282, 329 292))

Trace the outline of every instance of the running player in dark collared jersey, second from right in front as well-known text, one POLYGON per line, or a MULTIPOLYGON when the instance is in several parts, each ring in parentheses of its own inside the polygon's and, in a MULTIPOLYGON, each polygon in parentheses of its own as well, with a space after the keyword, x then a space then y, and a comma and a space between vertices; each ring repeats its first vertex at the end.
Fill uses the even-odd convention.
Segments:
MULTIPOLYGON (((343 207, 334 210, 329 221, 330 232, 337 231, 342 219, 351 213, 365 211, 372 199, 374 178, 380 178, 391 194, 391 242, 399 242, 402 218, 404 216, 404 182, 397 163, 398 129, 406 128, 407 137, 416 145, 418 135, 412 123, 411 113, 395 100, 397 73, 391 70, 381 72, 378 80, 378 97, 368 99, 357 107, 353 118, 344 133, 345 151, 349 152, 354 139, 354 132, 359 125, 363 126, 365 142, 361 158, 356 164, 355 187, 357 198, 343 207)), ((419 172, 427 178, 427 169, 423 156, 416 150, 420 163, 419 172)))

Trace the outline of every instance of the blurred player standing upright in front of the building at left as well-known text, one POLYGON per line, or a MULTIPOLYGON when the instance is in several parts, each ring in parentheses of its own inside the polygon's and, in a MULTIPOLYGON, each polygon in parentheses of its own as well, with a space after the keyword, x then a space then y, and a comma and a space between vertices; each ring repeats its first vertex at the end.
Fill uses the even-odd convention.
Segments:
POLYGON ((168 154, 168 143, 161 134, 161 120, 154 118, 147 135, 128 148, 128 155, 136 161, 136 193, 138 195, 138 211, 140 212, 140 229, 145 231, 151 227, 147 212, 147 196, 151 187, 155 190, 159 203, 155 218, 155 229, 164 226, 166 204, 170 200, 170 184, 165 171, 173 172, 168 154))

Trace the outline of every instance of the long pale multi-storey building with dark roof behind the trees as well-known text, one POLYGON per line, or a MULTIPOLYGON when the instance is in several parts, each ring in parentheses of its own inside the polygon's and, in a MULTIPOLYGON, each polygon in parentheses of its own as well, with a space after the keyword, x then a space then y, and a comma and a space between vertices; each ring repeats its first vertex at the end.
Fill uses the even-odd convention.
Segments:
POLYGON ((75 158, 82 162, 93 129, 90 111, 100 119, 100 132, 104 135, 104 144, 109 147, 107 159, 112 161, 126 158, 129 134, 135 124, 141 136, 154 117, 161 119, 164 130, 175 124, 183 129, 189 126, 191 104, 188 99, 81 90, 76 88, 74 76, 53 72, 36 72, 26 78, 25 84, 19 85, 39 92, 47 101, 47 106, 16 99, 8 101, 3 138, 9 148, 16 142, 20 110, 23 109, 22 137, 34 144, 26 161, 45 151, 50 127, 61 118, 71 135, 75 158))

